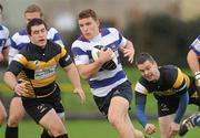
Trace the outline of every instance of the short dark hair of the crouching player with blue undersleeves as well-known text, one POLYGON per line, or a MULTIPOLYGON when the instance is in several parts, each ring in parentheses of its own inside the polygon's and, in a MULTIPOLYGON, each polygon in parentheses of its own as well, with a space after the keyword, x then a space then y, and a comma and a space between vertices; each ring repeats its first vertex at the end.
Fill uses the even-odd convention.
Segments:
POLYGON ((151 63, 154 63, 154 59, 149 54, 149 53, 139 53, 137 56, 136 56, 136 65, 138 64, 143 64, 146 61, 149 61, 151 63))

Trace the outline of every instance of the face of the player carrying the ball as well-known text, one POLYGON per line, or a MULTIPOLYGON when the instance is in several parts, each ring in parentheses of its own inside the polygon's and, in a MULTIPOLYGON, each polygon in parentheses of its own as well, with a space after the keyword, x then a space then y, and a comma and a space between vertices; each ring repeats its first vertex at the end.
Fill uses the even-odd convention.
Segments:
POLYGON ((82 35, 90 40, 99 34, 99 21, 93 18, 84 18, 79 20, 79 28, 82 35))

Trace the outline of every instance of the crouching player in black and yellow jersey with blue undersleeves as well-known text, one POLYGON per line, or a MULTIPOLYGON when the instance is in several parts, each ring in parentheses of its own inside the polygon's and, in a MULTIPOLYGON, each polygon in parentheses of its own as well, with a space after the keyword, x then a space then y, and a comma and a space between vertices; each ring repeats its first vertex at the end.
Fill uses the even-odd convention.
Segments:
POLYGON ((158 100, 161 138, 177 135, 188 103, 200 106, 194 78, 174 65, 159 67, 148 53, 140 53, 136 64, 141 72, 134 88, 137 118, 149 135, 156 131, 154 125, 149 124, 144 115, 147 95, 152 93, 158 100))

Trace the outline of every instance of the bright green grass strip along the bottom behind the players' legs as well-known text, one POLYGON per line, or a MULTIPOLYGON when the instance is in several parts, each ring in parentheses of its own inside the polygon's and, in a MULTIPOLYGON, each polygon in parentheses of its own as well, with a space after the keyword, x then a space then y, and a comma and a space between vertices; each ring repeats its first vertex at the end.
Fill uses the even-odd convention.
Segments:
MULTIPOLYGON (((159 127, 156 120, 151 121, 157 126, 157 132, 152 138, 160 138, 159 127)), ((141 126, 133 120, 134 127, 143 130, 141 126)), ((67 120, 67 130, 70 138, 118 138, 118 134, 106 120, 67 120)), ((39 138, 41 127, 32 120, 23 120, 19 127, 19 138, 39 138)), ((199 128, 189 131, 182 138, 197 138, 199 128)), ((0 138, 4 137, 4 125, 0 128, 0 138)), ((176 137, 179 138, 179 137, 176 137)))

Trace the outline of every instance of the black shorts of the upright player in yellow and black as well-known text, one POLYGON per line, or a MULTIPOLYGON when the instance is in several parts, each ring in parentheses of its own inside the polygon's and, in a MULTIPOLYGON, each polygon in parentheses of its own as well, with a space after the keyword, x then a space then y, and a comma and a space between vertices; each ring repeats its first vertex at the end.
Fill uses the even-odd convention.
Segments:
POLYGON ((64 113, 64 108, 61 104, 60 88, 57 87, 54 93, 42 98, 27 98, 22 97, 22 104, 26 112, 39 123, 40 119, 50 110, 54 109, 56 113, 64 113))

